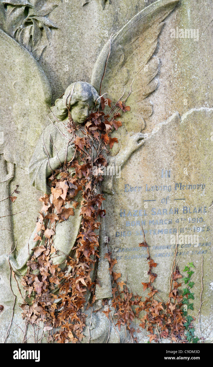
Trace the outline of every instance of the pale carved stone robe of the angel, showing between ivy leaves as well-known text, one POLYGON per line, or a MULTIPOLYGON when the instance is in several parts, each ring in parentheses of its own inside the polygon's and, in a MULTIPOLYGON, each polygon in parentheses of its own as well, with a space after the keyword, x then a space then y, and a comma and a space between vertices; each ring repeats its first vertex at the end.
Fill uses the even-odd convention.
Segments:
MULTIPOLYGON (((66 124, 66 121, 65 121, 66 124)), ((76 134, 83 137, 83 132, 77 130, 76 134)), ((67 131, 67 128, 57 121, 50 124, 45 128, 41 135, 36 149, 33 153, 32 159, 28 167, 29 177, 31 183, 37 190, 43 191, 47 194, 51 193, 51 188, 48 185, 47 172, 51 167, 50 160, 58 160, 58 167, 60 166, 57 152, 64 149, 66 152, 67 143, 69 142, 71 135, 67 131)), ((73 145, 74 147, 74 145, 73 145)), ((73 148, 73 154, 75 149, 73 148)), ((93 157, 96 155, 95 148, 93 148, 93 157)), ((78 156, 77 156, 78 157, 78 156)), ((110 165, 114 165, 113 158, 110 159, 110 165)), ((51 167, 52 168, 52 167, 51 167)), ((113 193, 113 176, 106 176, 106 180, 103 181, 103 192, 113 193)), ((81 193, 78 192, 75 200, 81 202, 81 193)), ((72 207, 71 203, 65 204, 66 207, 72 207)), ((59 250, 59 255, 53 258, 55 264, 60 264, 70 254, 72 247, 76 242, 80 225, 81 225, 81 205, 78 205, 74 209, 74 216, 70 216, 67 221, 63 221, 56 224, 54 235, 54 246, 59 250)), ((111 297, 111 280, 109 274, 109 263, 107 259, 104 259, 104 254, 107 252, 106 243, 104 243, 104 237, 106 236, 104 218, 102 218, 102 230, 99 239, 99 264, 97 275, 101 287, 96 291, 97 298, 109 298, 111 297)), ((34 243, 36 246, 36 243, 34 243)))

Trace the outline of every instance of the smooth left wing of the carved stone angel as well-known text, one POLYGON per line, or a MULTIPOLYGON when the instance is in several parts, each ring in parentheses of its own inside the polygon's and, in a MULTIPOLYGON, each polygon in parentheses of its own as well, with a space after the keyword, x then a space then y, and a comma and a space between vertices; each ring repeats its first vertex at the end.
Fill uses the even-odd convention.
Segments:
POLYGON ((26 168, 44 128, 51 89, 43 70, 14 39, 0 30, 0 153, 26 168))

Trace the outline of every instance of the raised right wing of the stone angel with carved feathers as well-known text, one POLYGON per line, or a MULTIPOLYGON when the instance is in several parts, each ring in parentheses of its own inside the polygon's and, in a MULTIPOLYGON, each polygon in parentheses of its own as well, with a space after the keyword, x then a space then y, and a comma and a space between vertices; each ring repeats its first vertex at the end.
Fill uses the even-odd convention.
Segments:
POLYGON ((113 102, 121 97, 124 90, 126 94, 129 92, 134 79, 128 98, 131 112, 122 116, 129 132, 141 131, 145 126, 144 118, 152 114, 151 104, 146 97, 157 88, 158 81, 155 76, 159 62, 158 58, 151 57, 164 25, 162 21, 178 2, 179 0, 159 0, 140 11, 111 37, 110 54, 108 41, 95 63, 91 84, 100 92, 102 83, 101 94, 109 92, 109 98, 113 99, 113 102))

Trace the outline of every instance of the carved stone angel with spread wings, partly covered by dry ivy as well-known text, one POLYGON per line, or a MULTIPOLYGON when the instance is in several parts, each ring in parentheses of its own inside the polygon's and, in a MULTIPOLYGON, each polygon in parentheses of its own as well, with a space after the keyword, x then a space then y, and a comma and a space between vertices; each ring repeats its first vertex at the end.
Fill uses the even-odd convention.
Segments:
MULTIPOLYGON (((20 167, 26 170, 31 159, 29 173, 32 178, 32 183, 36 189, 42 190, 48 194, 47 179, 51 175, 51 172, 65 162, 67 155, 72 159, 71 156, 75 150, 73 142, 67 135, 67 123, 69 123, 68 111, 70 111, 71 117, 75 123, 78 125, 83 124, 81 128, 78 128, 78 132, 76 133, 76 135, 80 134, 79 138, 83 138, 85 134, 84 121, 92 110, 95 111, 98 108, 99 95, 109 93, 109 97, 112 99, 113 105, 115 105, 123 92, 123 96, 126 98, 129 91, 131 91, 128 97, 128 105, 131 106, 131 111, 129 111, 128 114, 122 115, 122 121, 124 121, 124 123, 120 128, 120 137, 118 139, 121 141, 121 144, 114 144, 112 154, 108 158, 108 164, 122 167, 131 154, 144 143, 144 136, 141 131, 145 127, 145 119, 152 113, 152 108, 147 97, 156 89, 158 84, 155 79, 158 73, 158 59, 156 57, 152 58, 152 56, 157 47, 158 35, 164 24, 163 20, 178 2, 179 0, 159 0, 133 17, 131 21, 117 32, 103 47, 93 69, 91 84, 78 82, 69 86, 65 91, 65 95, 55 102, 55 107, 51 112, 48 110, 51 94, 48 81, 43 71, 35 64, 33 58, 31 58, 27 52, 25 53, 24 50, 4 32, 0 32, 0 41, 3 47, 7 48, 7 52, 2 52, 1 54, 1 58, 3 59, 2 65, 4 65, 4 70, 10 70, 9 75, 11 75, 11 81, 8 81, 10 97, 7 97, 7 105, 11 110, 12 124, 11 119, 8 121, 8 114, 5 110, 5 98, 1 100, 1 121, 5 122, 5 126, 11 126, 10 134, 8 134, 8 131, 5 131, 5 136, 12 136, 12 133, 14 134, 13 140, 6 140, 5 144, 2 146, 1 160, 7 161, 10 165, 15 163, 17 170, 19 170, 20 167), (5 55, 9 54, 10 50, 10 54, 13 55, 13 57, 18 57, 18 59, 8 62, 8 60, 5 59, 5 55), (12 52, 12 50, 16 52, 12 52), (14 54, 16 56, 14 56, 14 54), (31 88, 27 88, 29 86, 29 80, 26 79, 25 81, 25 75, 20 73, 24 59, 27 59, 27 63, 30 64, 29 68, 31 68, 31 74, 32 68, 35 70, 34 81, 31 81, 31 88), (10 62, 12 67, 10 67, 10 62), (16 74, 18 72, 20 75, 19 78, 16 79, 16 74), (20 80, 22 80, 22 82, 20 82, 20 80), (34 83, 36 87, 35 91, 32 91, 32 85, 34 85, 34 83), (30 90, 32 92, 29 92, 30 90), (67 108, 67 106, 69 106, 69 108, 67 108), (49 120, 51 120, 51 122, 49 120), (39 135, 40 139, 38 140, 39 135), (23 137, 25 137, 25 141, 23 141, 23 137)), ((42 13, 43 15, 40 17, 36 15, 37 13, 33 14, 31 10, 29 13, 31 15, 28 14, 27 17, 31 19, 30 22, 33 22, 33 24, 29 26, 34 26, 37 22, 40 22, 40 20, 42 20, 40 19, 41 17, 47 19, 45 15, 48 14, 44 11, 42 13)), ((43 24, 48 28, 47 21, 45 22, 46 24, 43 24)), ((40 29, 40 23, 38 23, 38 28, 40 29)), ((14 30, 14 34, 15 32, 19 34, 19 36, 22 33, 20 29, 14 30)), ((36 37, 36 34, 34 34, 35 43, 37 40, 36 37)), ((2 75, 2 79, 5 79, 4 75, 2 75)), ((5 80, 5 83, 6 82, 5 80)), ((114 130, 111 134, 111 138, 117 137, 118 134, 119 130, 118 132, 114 130)), ((94 152, 95 150, 97 150, 97 147, 94 145, 94 152)), ((94 154, 94 152, 92 154, 94 154)), ((8 168, 6 167, 6 163, 1 164, 1 174, 7 177, 7 171, 8 168)), ((4 180, 2 179, 1 181, 4 180)), ((7 191, 8 183, 5 185, 7 185, 7 191)), ((108 184, 107 181, 103 183, 102 191, 113 193, 113 178, 108 184)), ((3 202, 4 201, 2 201, 2 203, 3 202)), ((33 205, 36 207, 37 201, 32 199, 29 209, 33 205)), ((76 241, 76 237, 78 236, 78 230, 81 224, 81 218, 79 217, 80 209, 79 205, 76 210, 76 215, 71 215, 68 221, 63 221, 55 227, 53 241, 55 246, 57 245, 61 251, 61 262, 64 261, 63 254, 66 256, 69 255, 76 241)), ((10 213, 6 215, 8 215, 7 222, 9 225, 9 222, 11 223, 10 213)), ((17 214, 17 217, 18 215, 19 214, 17 214)), ((15 223, 14 219, 14 233, 15 223)), ((37 230, 34 230, 32 233, 33 217, 30 217, 30 225, 29 221, 26 225, 23 225, 23 230, 27 232, 27 235, 25 235, 25 245, 22 246, 22 244, 18 244, 18 246, 22 248, 21 251, 19 250, 11 255, 11 264, 14 270, 18 270, 22 273, 25 271, 26 263, 29 260, 30 254, 33 252, 32 248, 36 247, 37 244, 37 242, 34 241, 34 236, 39 231, 37 232, 37 230), (29 233, 29 228, 31 233, 29 233)), ((100 281, 100 288, 97 287, 96 289, 96 298, 98 299, 107 298, 111 295, 109 264, 108 260, 106 258, 104 259, 105 250, 102 248, 104 236, 106 236, 106 233, 103 218, 99 237, 100 260, 97 269, 98 279, 100 281)), ((19 238, 16 238, 14 235, 14 240, 18 242, 19 238)), ((39 241, 40 240, 38 240, 38 243, 40 243, 39 241)), ((1 244, 1 246, 3 245, 1 244)), ((7 254, 10 252, 10 247, 11 242, 4 243, 7 254)), ((1 268, 3 269, 3 273, 7 275, 8 267, 6 266, 6 257, 1 261, 1 268)), ((6 286, 4 287, 7 289, 6 286)), ((8 294, 9 293, 10 289, 8 287, 8 294)), ((8 302, 8 304, 11 305, 10 302, 12 301, 10 301, 10 299, 8 302)), ((4 330, 7 330, 7 323, 4 325, 4 330)), ((108 329, 102 330, 100 339, 104 340, 106 335, 108 335, 108 329)), ((93 338, 94 340, 98 340, 95 332, 93 338)))

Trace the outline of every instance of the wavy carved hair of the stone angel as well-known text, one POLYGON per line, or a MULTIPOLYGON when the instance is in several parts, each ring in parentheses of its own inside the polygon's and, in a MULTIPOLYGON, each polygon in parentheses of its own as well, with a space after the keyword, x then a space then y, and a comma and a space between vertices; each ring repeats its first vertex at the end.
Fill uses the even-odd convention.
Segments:
POLYGON ((71 110, 72 106, 79 101, 85 102, 85 105, 89 105, 90 109, 94 106, 95 109, 98 109, 100 104, 100 99, 98 98, 99 95, 91 84, 77 81, 70 84, 63 98, 56 99, 54 115, 57 119, 64 120, 68 115, 68 108, 71 110))

